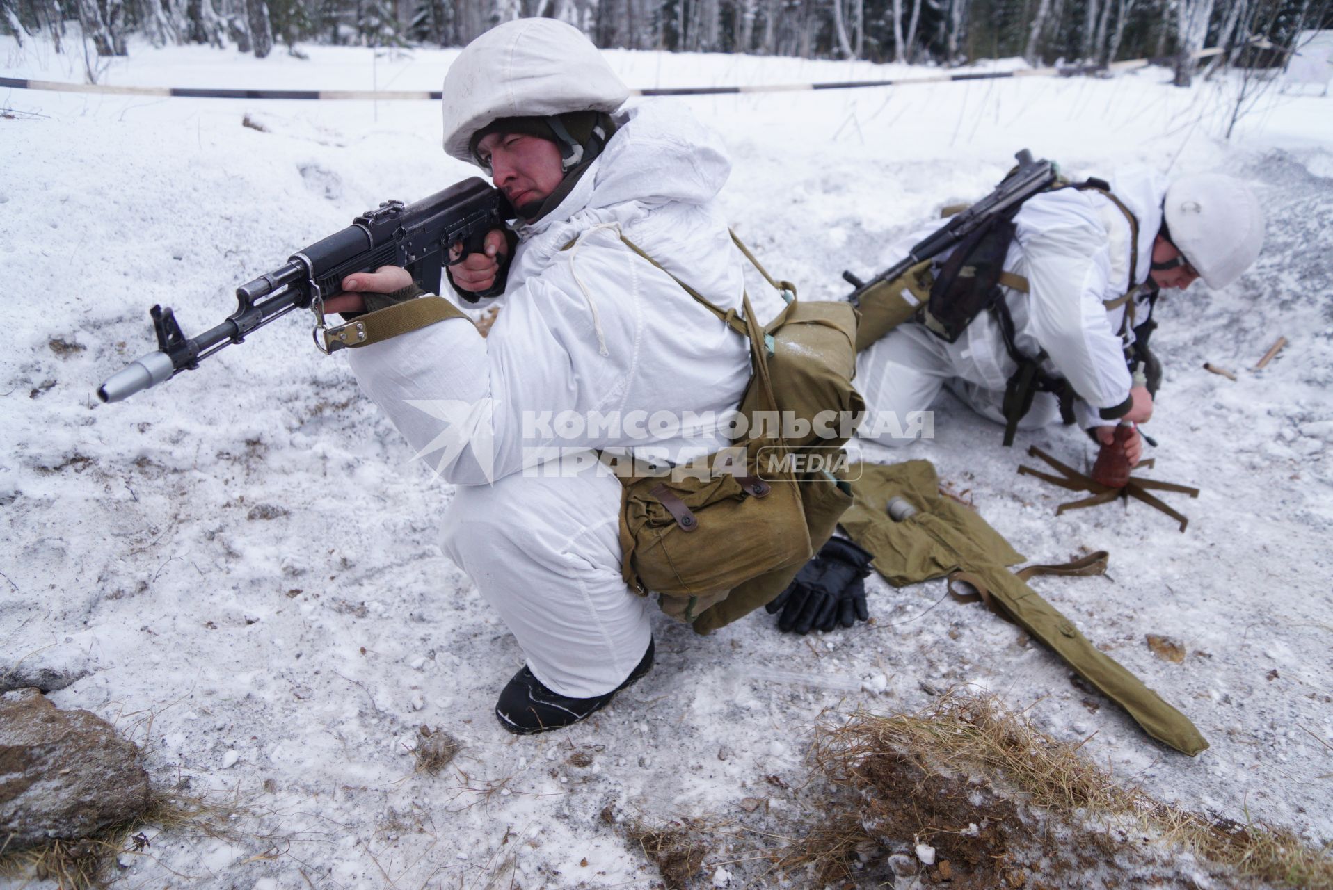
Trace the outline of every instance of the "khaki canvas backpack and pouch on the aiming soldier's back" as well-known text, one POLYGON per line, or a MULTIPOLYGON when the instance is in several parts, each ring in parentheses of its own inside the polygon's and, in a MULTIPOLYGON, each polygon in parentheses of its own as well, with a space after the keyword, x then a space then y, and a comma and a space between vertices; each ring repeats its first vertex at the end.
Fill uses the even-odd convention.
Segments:
POLYGON ((788 301, 766 326, 760 328, 748 296, 742 318, 672 277, 749 340, 752 377, 740 405, 749 434, 709 456, 708 473, 621 476, 625 582, 657 593, 664 612, 701 634, 772 601, 833 534, 852 504, 846 484, 836 477, 850 429, 825 424, 821 434, 817 421, 828 412, 858 420, 865 409, 852 386, 856 310, 845 302, 797 301, 794 285, 774 281, 732 238, 788 301), (808 432, 786 438, 782 424, 765 421, 765 412, 808 432), (810 469, 812 456, 822 469, 810 469))

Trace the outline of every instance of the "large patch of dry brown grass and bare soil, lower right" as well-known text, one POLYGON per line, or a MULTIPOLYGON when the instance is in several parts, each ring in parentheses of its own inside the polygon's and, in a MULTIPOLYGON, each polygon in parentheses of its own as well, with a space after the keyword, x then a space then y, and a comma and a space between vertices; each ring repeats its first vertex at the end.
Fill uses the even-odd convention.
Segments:
POLYGON ((810 757, 846 793, 850 818, 830 819, 781 866, 813 865, 825 882, 852 878, 872 846, 882 853, 885 842, 905 847, 912 839, 936 847, 928 877, 952 877, 953 887, 1032 886, 1018 863, 1040 855, 1066 869, 1094 866, 1093 851, 1110 861, 1134 834, 1188 850, 1222 878, 1333 887, 1328 847, 1314 849, 1288 829, 1208 818, 1125 787, 1077 745, 1050 738, 993 697, 954 690, 917 714, 857 713, 822 730, 810 757), (1040 834, 1029 827, 1037 822, 1045 822, 1040 834), (1064 850, 1052 847, 1058 829, 1073 838, 1064 850), (945 861, 948 867, 938 865, 945 861))

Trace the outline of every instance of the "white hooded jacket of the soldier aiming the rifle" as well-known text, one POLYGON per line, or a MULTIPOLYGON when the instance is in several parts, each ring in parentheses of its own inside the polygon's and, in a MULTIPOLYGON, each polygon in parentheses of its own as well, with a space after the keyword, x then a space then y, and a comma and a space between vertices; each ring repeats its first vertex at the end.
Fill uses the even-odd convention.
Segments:
POLYGON ((483 485, 556 449, 648 446, 680 464, 726 444, 716 428, 692 428, 690 413, 736 408, 748 342, 620 233, 720 308, 738 308, 740 253, 714 201, 730 163, 682 107, 616 120, 565 200, 519 228, 489 337, 452 318, 347 350, 363 389, 445 481, 483 485))

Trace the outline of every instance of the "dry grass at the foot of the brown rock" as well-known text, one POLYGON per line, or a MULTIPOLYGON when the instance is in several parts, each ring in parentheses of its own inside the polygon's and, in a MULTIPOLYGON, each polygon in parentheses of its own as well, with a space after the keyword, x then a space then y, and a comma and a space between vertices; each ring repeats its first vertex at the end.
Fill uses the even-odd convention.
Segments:
POLYGON ((235 822, 247 811, 236 802, 212 802, 205 797, 159 793, 143 815, 109 825, 77 841, 52 839, 47 843, 8 850, 0 846, 0 877, 21 881, 55 881, 60 887, 84 890, 109 883, 112 863, 124 853, 147 853, 152 838, 143 829, 187 831, 240 841, 235 822))

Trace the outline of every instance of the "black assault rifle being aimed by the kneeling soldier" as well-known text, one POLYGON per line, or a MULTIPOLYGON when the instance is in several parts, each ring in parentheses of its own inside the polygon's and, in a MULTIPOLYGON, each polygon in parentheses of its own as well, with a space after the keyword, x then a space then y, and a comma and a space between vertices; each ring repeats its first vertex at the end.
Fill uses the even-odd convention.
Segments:
POLYGON ((339 293, 343 278, 356 272, 404 266, 421 288, 439 293, 449 246, 463 245, 463 254, 452 265, 483 250, 487 232, 501 228, 508 219, 513 219, 513 209, 504 195, 476 176, 415 204, 385 201, 341 232, 293 253, 275 272, 236 288, 236 312, 197 337, 187 340, 172 310, 153 306, 157 352, 112 374, 97 388, 97 396, 104 402, 119 402, 193 370, 201 360, 244 342, 248 333, 292 309, 312 309, 323 325, 325 297, 339 293))

